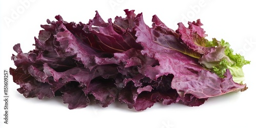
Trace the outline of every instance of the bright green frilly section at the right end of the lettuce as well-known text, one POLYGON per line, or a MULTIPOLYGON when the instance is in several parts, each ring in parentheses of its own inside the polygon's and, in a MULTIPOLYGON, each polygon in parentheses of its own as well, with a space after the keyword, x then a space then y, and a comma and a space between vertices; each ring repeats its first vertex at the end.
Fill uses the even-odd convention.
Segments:
MULTIPOLYGON (((221 39, 221 41, 218 41, 217 39, 213 39, 212 41, 207 42, 208 47, 216 47, 217 50, 216 56, 219 56, 219 60, 215 60, 214 65, 210 65, 208 55, 205 54, 200 62, 203 66, 211 69, 213 72, 215 72, 218 76, 224 77, 224 73, 226 72, 226 69, 229 69, 232 75, 232 78, 237 83, 243 83, 245 80, 244 72, 242 67, 244 65, 247 65, 250 63, 250 61, 245 60, 243 56, 240 54, 233 54, 233 50, 230 47, 228 42, 225 42, 225 40, 221 39), (222 55, 220 55, 222 54, 222 55)), ((215 54, 215 53, 208 53, 208 54, 215 54)))

